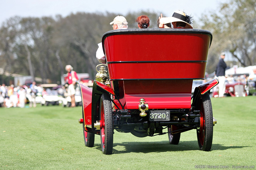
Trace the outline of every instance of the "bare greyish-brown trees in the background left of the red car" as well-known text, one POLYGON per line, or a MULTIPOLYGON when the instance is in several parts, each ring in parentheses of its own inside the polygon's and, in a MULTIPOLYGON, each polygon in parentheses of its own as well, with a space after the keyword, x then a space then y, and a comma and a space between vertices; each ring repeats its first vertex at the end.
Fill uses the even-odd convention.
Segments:
MULTIPOLYGON (((95 57, 102 35, 112 30, 109 24, 121 14, 78 12, 67 17, 12 17, 0 28, 0 68, 4 72, 41 77, 56 83, 70 64, 78 73, 88 72, 91 79, 99 64, 95 57)), ((128 13, 129 28, 136 28, 135 19, 148 15, 151 28, 158 15, 142 11, 128 13)), ((7 83, 7 82, 0 82, 7 83)), ((7 83, 8 84, 8 83, 7 83)))

